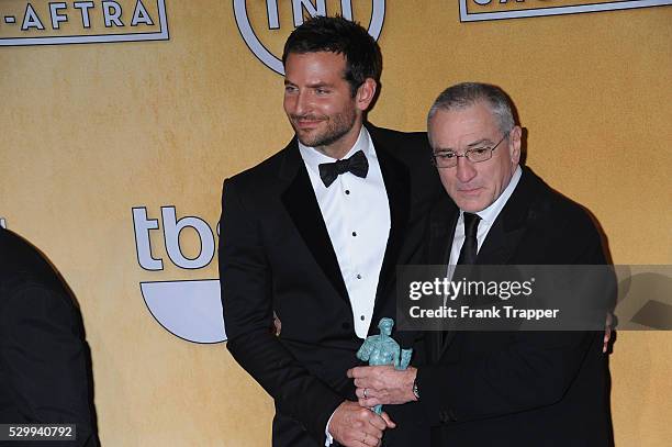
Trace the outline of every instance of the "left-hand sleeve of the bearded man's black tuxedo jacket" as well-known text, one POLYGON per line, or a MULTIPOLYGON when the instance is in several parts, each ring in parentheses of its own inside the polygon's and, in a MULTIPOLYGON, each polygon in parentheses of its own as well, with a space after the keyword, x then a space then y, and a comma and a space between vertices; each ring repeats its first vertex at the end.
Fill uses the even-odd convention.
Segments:
POLYGON ((271 332, 273 271, 260 231, 265 217, 249 212, 235 180, 224 182, 219 265, 227 348, 277 409, 324 445, 326 424, 344 399, 311 375, 271 332))

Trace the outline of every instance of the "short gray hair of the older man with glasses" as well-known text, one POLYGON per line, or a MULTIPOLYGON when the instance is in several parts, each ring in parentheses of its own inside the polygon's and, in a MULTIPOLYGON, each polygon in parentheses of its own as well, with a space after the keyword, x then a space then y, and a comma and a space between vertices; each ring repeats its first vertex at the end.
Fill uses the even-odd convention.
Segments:
POLYGON ((439 110, 463 109, 479 101, 484 101, 489 105, 503 134, 507 134, 514 128, 513 107, 508 96, 501 88, 482 82, 462 82, 444 90, 429 109, 427 126, 429 120, 439 110))

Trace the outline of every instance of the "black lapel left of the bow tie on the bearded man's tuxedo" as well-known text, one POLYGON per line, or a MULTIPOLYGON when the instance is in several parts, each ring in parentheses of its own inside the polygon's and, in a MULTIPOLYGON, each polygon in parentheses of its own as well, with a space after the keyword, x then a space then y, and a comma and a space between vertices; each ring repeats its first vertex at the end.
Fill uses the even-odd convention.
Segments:
POLYGON ((315 261, 334 289, 349 305, 348 292, 340 273, 338 259, 295 138, 285 148, 285 154, 280 168, 280 177, 289 180, 289 186, 281 195, 282 203, 315 261))

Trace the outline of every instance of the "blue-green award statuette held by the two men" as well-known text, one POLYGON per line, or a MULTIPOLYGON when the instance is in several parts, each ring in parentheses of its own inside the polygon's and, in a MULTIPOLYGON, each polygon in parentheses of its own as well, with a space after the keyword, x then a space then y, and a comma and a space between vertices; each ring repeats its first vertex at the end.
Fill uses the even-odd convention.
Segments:
MULTIPOLYGON (((401 349, 399 343, 391 337, 394 320, 380 319, 379 335, 371 335, 361 344, 357 358, 369 361, 369 366, 394 365, 394 369, 406 369, 411 362, 413 349, 401 349)), ((382 413, 382 405, 371 409, 376 414, 382 413)))

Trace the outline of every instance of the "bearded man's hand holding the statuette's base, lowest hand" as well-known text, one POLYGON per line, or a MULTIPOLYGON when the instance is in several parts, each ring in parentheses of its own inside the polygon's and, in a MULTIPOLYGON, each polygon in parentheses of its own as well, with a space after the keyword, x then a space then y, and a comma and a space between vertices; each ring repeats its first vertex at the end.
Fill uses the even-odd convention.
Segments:
POLYGON ((344 401, 332 416, 329 434, 345 447, 378 447, 385 428, 394 428, 387 413, 380 416, 357 402, 344 401))

